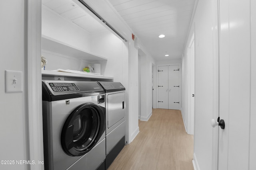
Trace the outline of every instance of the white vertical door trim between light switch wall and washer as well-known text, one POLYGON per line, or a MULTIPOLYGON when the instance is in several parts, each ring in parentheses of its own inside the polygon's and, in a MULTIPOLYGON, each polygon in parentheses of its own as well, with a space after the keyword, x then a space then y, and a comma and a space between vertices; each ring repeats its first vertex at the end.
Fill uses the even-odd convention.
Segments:
MULTIPOLYGON (((41 74, 41 0, 24 0, 27 37, 25 69, 26 102, 28 113, 28 160, 44 160, 42 125, 41 74)), ((43 164, 28 165, 30 170, 43 170, 43 164)))

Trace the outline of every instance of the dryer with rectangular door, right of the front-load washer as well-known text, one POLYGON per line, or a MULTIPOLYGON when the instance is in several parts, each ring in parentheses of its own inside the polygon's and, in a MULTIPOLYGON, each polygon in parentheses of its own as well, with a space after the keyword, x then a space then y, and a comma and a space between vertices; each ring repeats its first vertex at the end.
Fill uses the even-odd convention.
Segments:
POLYGON ((125 88, 120 82, 99 82, 106 94, 106 169, 125 145, 125 88))

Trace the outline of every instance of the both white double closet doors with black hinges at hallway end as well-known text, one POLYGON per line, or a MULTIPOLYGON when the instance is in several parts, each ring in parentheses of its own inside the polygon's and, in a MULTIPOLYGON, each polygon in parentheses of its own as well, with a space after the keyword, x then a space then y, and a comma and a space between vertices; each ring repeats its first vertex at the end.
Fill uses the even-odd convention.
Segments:
POLYGON ((158 108, 180 109, 179 65, 158 66, 158 108))

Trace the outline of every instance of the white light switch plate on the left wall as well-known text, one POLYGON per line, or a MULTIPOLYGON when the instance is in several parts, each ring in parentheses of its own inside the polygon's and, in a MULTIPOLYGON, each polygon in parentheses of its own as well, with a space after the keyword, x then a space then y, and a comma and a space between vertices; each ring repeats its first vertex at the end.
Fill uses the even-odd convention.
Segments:
POLYGON ((21 71, 5 70, 5 92, 22 92, 23 76, 21 71))

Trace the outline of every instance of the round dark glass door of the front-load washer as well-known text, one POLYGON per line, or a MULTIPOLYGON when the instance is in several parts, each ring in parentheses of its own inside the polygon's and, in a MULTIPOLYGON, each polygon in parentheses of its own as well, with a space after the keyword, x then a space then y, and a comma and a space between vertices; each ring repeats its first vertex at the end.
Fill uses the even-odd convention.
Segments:
POLYGON ((106 129, 105 108, 93 103, 78 106, 68 116, 61 133, 66 154, 81 156, 89 152, 106 129))

